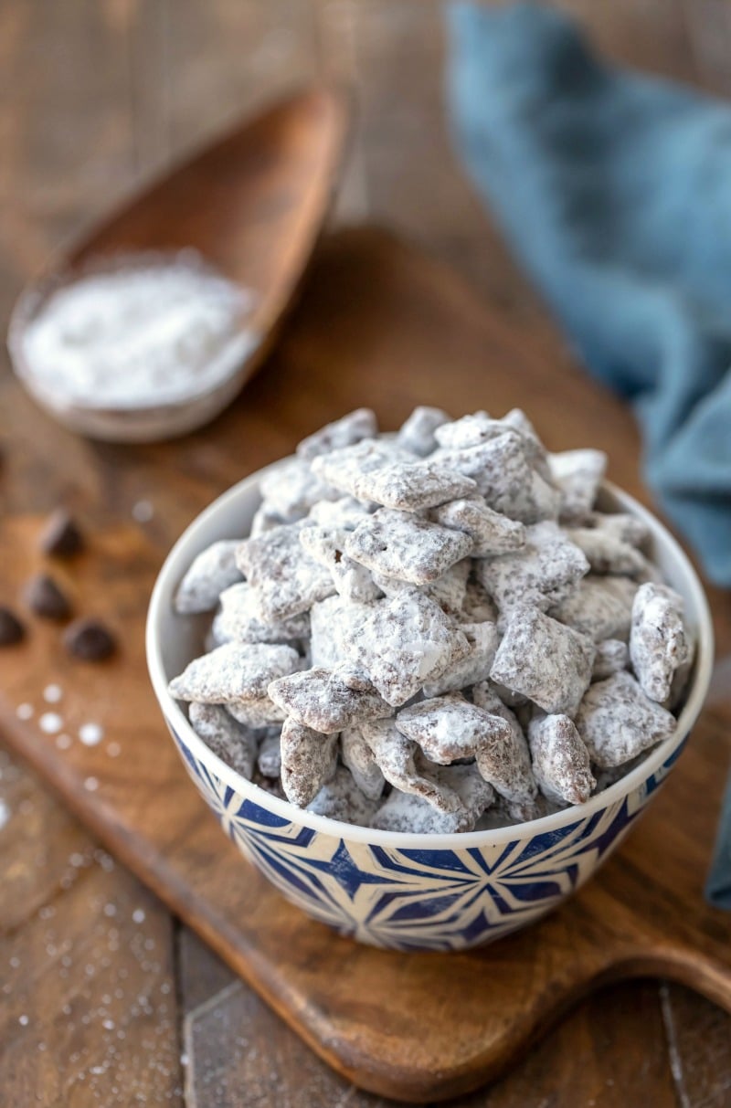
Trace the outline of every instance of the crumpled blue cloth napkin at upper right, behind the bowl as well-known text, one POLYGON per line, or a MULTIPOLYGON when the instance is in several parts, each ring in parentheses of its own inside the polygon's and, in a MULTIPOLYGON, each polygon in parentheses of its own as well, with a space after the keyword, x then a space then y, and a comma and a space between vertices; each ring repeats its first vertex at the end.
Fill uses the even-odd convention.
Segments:
POLYGON ((656 499, 731 586, 731 106, 606 64, 543 4, 449 14, 471 176, 588 369, 632 404, 656 499))

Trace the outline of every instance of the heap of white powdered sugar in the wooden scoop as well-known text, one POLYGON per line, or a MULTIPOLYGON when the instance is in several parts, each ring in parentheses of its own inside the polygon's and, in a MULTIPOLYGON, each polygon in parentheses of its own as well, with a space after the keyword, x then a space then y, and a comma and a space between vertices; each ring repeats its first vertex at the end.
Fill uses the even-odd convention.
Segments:
POLYGON ((176 403, 225 380, 256 345, 253 294, 195 250, 112 258, 58 288, 28 325, 38 387, 80 404, 176 403))

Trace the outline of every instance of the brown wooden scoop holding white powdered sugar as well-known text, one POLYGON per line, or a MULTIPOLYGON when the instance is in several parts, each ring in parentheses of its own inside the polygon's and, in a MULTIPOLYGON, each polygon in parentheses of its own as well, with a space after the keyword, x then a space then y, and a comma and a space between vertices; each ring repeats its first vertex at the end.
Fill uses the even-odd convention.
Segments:
MULTIPOLYGON (((348 130, 346 100, 310 89, 244 123, 153 184, 54 259, 19 299, 9 345, 35 398, 73 429, 96 438, 144 441, 200 425, 222 411, 261 363, 289 306, 328 212, 348 130), (244 362, 215 393, 132 411, 61 406, 34 388, 22 334, 50 293, 101 256, 193 247, 250 289, 241 322, 253 336, 244 362)), ((93 400, 91 401, 93 403, 93 400)))

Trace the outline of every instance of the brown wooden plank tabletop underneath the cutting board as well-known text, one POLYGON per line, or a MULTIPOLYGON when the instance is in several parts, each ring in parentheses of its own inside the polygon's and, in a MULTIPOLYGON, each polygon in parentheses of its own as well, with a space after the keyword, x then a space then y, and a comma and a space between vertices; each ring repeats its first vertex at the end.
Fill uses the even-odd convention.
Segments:
MULTIPOLYGON (((615 58, 731 95, 725 0, 564 6, 615 58)), ((442 53, 428 0, 2 0, 2 319, 65 236, 241 112, 330 75, 360 101, 334 218, 405 232, 566 360, 450 155, 442 53)), ((11 419, 0 412, 0 444, 11 419)), ((731 627, 720 630, 728 652, 731 627)), ((720 699, 730 675, 722 658, 720 699)), ((331 1075, 1 748, 0 889, 0 988, 21 1012, 0 1043, 2 1102, 385 1104, 331 1075)), ((707 1001, 627 984, 459 1102, 720 1108, 730 1046, 731 1017, 707 1001)))

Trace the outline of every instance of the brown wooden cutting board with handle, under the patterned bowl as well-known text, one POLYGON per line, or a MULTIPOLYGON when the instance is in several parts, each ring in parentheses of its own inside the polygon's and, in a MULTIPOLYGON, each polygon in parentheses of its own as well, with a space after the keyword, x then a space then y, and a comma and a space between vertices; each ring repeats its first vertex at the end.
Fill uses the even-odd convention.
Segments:
MULTIPOLYGON (((649 814, 573 902, 526 932, 465 954, 399 954, 340 938, 269 888, 220 833, 165 731, 144 659, 147 597, 183 527, 246 473, 358 404, 393 429, 418 403, 455 414, 524 406, 553 449, 608 451, 609 475, 640 499, 626 409, 480 304, 462 281, 389 236, 326 240, 260 377, 207 430, 136 448, 94 444, 0 382, 0 602, 42 564, 42 514, 60 501, 89 550, 53 572, 79 613, 103 616, 119 656, 70 660, 59 629, 30 623, 0 656, 0 730, 99 838, 246 978, 333 1067, 364 1088, 420 1101, 472 1089, 508 1066, 580 995, 661 974, 731 1010, 731 917, 702 900, 731 748, 707 709, 649 814), (147 502, 150 522, 134 522, 147 502), (58 705, 43 690, 63 690, 58 705), (32 718, 17 709, 30 705, 32 718), (39 725, 63 719, 62 735, 39 725), (104 728, 95 747, 84 722, 104 728)), ((714 601, 727 647, 728 597, 714 601)))

